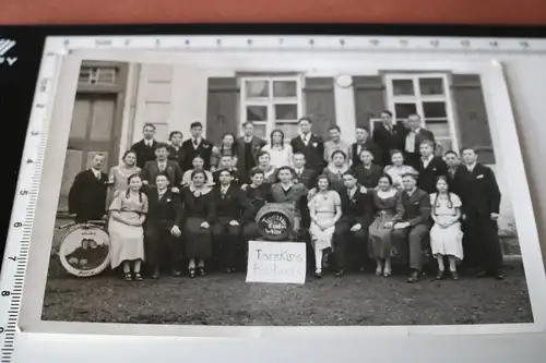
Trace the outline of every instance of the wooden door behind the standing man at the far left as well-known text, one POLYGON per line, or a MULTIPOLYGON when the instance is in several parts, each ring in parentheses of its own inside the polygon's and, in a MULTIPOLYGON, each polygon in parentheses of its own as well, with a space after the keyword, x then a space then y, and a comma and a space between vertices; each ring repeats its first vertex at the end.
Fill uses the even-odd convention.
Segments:
POLYGON ((121 122, 115 122, 116 100, 116 94, 76 94, 58 211, 68 210, 68 194, 74 178, 80 171, 91 167, 95 153, 102 153, 106 157, 104 172, 118 164, 121 122))

